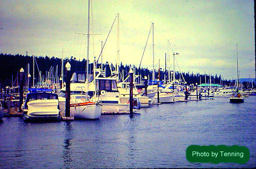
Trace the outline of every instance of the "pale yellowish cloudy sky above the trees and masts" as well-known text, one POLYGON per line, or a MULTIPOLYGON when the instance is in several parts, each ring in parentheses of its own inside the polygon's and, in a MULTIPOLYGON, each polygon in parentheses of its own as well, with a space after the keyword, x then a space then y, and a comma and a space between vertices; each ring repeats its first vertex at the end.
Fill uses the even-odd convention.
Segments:
MULTIPOLYGON (((91 1, 89 60, 103 49, 103 62, 139 66, 151 23, 154 23, 155 67, 236 78, 255 78, 253 1, 91 1), (100 34, 100 35, 96 35, 100 34), (237 49, 236 50, 236 44, 237 49), (170 62, 169 62, 170 61, 170 62), (178 63, 178 64, 177 64, 178 63)), ((88 1, 0 0, 0 52, 36 56, 87 58, 88 1), (62 53, 63 49, 63 53, 62 53)), ((100 60, 101 61, 101 60, 100 60)), ((99 61, 99 62, 100 62, 99 61)), ((142 67, 153 69, 151 30, 142 67)))

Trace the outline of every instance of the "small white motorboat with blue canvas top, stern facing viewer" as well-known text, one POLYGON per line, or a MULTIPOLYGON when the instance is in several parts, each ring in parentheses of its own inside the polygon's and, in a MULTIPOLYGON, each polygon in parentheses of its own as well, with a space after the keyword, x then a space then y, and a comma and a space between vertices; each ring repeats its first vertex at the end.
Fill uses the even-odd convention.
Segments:
POLYGON ((22 105, 24 120, 58 120, 60 116, 57 94, 30 92, 22 105))

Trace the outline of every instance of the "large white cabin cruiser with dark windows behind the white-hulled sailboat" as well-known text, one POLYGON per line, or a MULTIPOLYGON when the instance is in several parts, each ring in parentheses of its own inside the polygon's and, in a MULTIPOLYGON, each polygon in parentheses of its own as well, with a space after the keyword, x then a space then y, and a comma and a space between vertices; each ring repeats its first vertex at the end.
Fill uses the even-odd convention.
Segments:
MULTIPOLYGON (((97 71, 97 70, 96 70, 97 71)), ((75 72, 72 75, 70 82, 71 96, 72 94, 87 94, 90 102, 94 102, 97 105, 101 105, 102 112, 119 112, 119 111, 129 111, 130 104, 123 102, 121 96, 117 89, 117 82, 115 78, 100 78, 100 72, 93 78, 90 77, 89 82, 85 81, 84 72, 75 72)), ((66 88, 62 88, 63 92, 66 88)), ((65 97, 62 97, 62 103, 65 105, 65 97)), ((70 101, 71 104, 71 101, 70 101)), ((140 100, 137 98, 133 99, 134 109, 140 109, 140 100)), ((60 104, 62 105, 62 104, 60 104)), ((136 111, 136 110, 134 110, 136 111)))

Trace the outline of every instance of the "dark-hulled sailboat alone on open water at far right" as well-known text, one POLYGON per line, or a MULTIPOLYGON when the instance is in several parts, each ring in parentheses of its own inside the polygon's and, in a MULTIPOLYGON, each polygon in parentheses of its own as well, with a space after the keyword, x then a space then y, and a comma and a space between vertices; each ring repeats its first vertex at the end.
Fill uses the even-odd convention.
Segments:
POLYGON ((239 91, 239 77, 238 77, 238 52, 237 52, 237 44, 236 44, 236 67, 237 67, 237 79, 236 79, 236 90, 231 95, 229 102, 231 103, 243 103, 244 102, 244 96, 241 91, 239 91))

